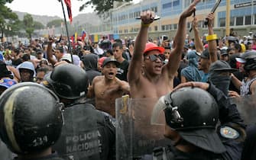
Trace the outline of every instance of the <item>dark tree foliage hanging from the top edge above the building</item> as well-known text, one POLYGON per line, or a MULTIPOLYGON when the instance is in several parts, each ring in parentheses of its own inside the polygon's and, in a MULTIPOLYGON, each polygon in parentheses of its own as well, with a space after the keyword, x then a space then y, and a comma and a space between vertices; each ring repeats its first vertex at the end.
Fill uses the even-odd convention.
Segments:
MULTIPOLYGON (((78 0, 84 1, 84 0, 78 0)), ((89 0, 80 6, 79 11, 83 11, 84 8, 92 5, 98 15, 104 14, 104 12, 108 12, 110 9, 113 8, 114 2, 131 2, 132 0, 89 0)))

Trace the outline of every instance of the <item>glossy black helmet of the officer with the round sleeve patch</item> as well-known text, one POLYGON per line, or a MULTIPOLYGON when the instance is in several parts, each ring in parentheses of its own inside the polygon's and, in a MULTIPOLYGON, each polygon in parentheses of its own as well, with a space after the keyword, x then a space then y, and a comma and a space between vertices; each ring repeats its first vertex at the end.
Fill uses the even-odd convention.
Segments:
POLYGON ((167 125, 175 130, 215 128, 219 118, 215 99, 200 88, 180 88, 167 94, 165 103, 167 125))

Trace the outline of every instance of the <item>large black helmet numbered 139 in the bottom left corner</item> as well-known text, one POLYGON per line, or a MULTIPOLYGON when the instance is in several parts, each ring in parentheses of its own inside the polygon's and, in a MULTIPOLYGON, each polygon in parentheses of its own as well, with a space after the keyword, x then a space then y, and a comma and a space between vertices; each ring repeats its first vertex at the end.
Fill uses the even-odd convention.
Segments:
POLYGON ((19 155, 53 146, 63 126, 63 104, 42 85, 23 82, 0 97, 0 136, 19 155))

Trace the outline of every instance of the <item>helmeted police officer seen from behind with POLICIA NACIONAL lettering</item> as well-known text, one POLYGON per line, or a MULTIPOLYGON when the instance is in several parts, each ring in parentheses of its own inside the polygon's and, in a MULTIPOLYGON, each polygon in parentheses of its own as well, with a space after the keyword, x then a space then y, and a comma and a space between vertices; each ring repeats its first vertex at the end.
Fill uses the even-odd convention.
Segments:
POLYGON ((46 80, 66 107, 63 131, 53 148, 69 160, 114 159, 113 119, 86 101, 89 84, 86 72, 73 64, 63 64, 55 67, 46 80))

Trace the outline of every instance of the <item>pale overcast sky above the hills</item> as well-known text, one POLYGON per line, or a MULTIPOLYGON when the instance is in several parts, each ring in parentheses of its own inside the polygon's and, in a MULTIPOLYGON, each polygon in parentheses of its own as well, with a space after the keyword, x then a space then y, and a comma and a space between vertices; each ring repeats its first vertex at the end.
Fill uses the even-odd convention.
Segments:
MULTIPOLYGON (((140 0, 133 0, 134 2, 139 2, 140 0)), ((71 0, 72 15, 75 17, 77 14, 89 13, 93 9, 91 7, 85 8, 83 11, 79 11, 79 6, 83 5, 83 2, 77 0, 71 0)), ((66 5, 63 1, 64 8, 66 10, 66 5)), ((37 15, 57 15, 60 18, 63 17, 63 11, 61 3, 58 0, 14 0, 11 4, 6 4, 8 8, 12 11, 28 12, 29 14, 37 15)), ((66 13, 66 12, 65 12, 66 13)), ((66 13, 67 15, 67 13, 66 13)))

